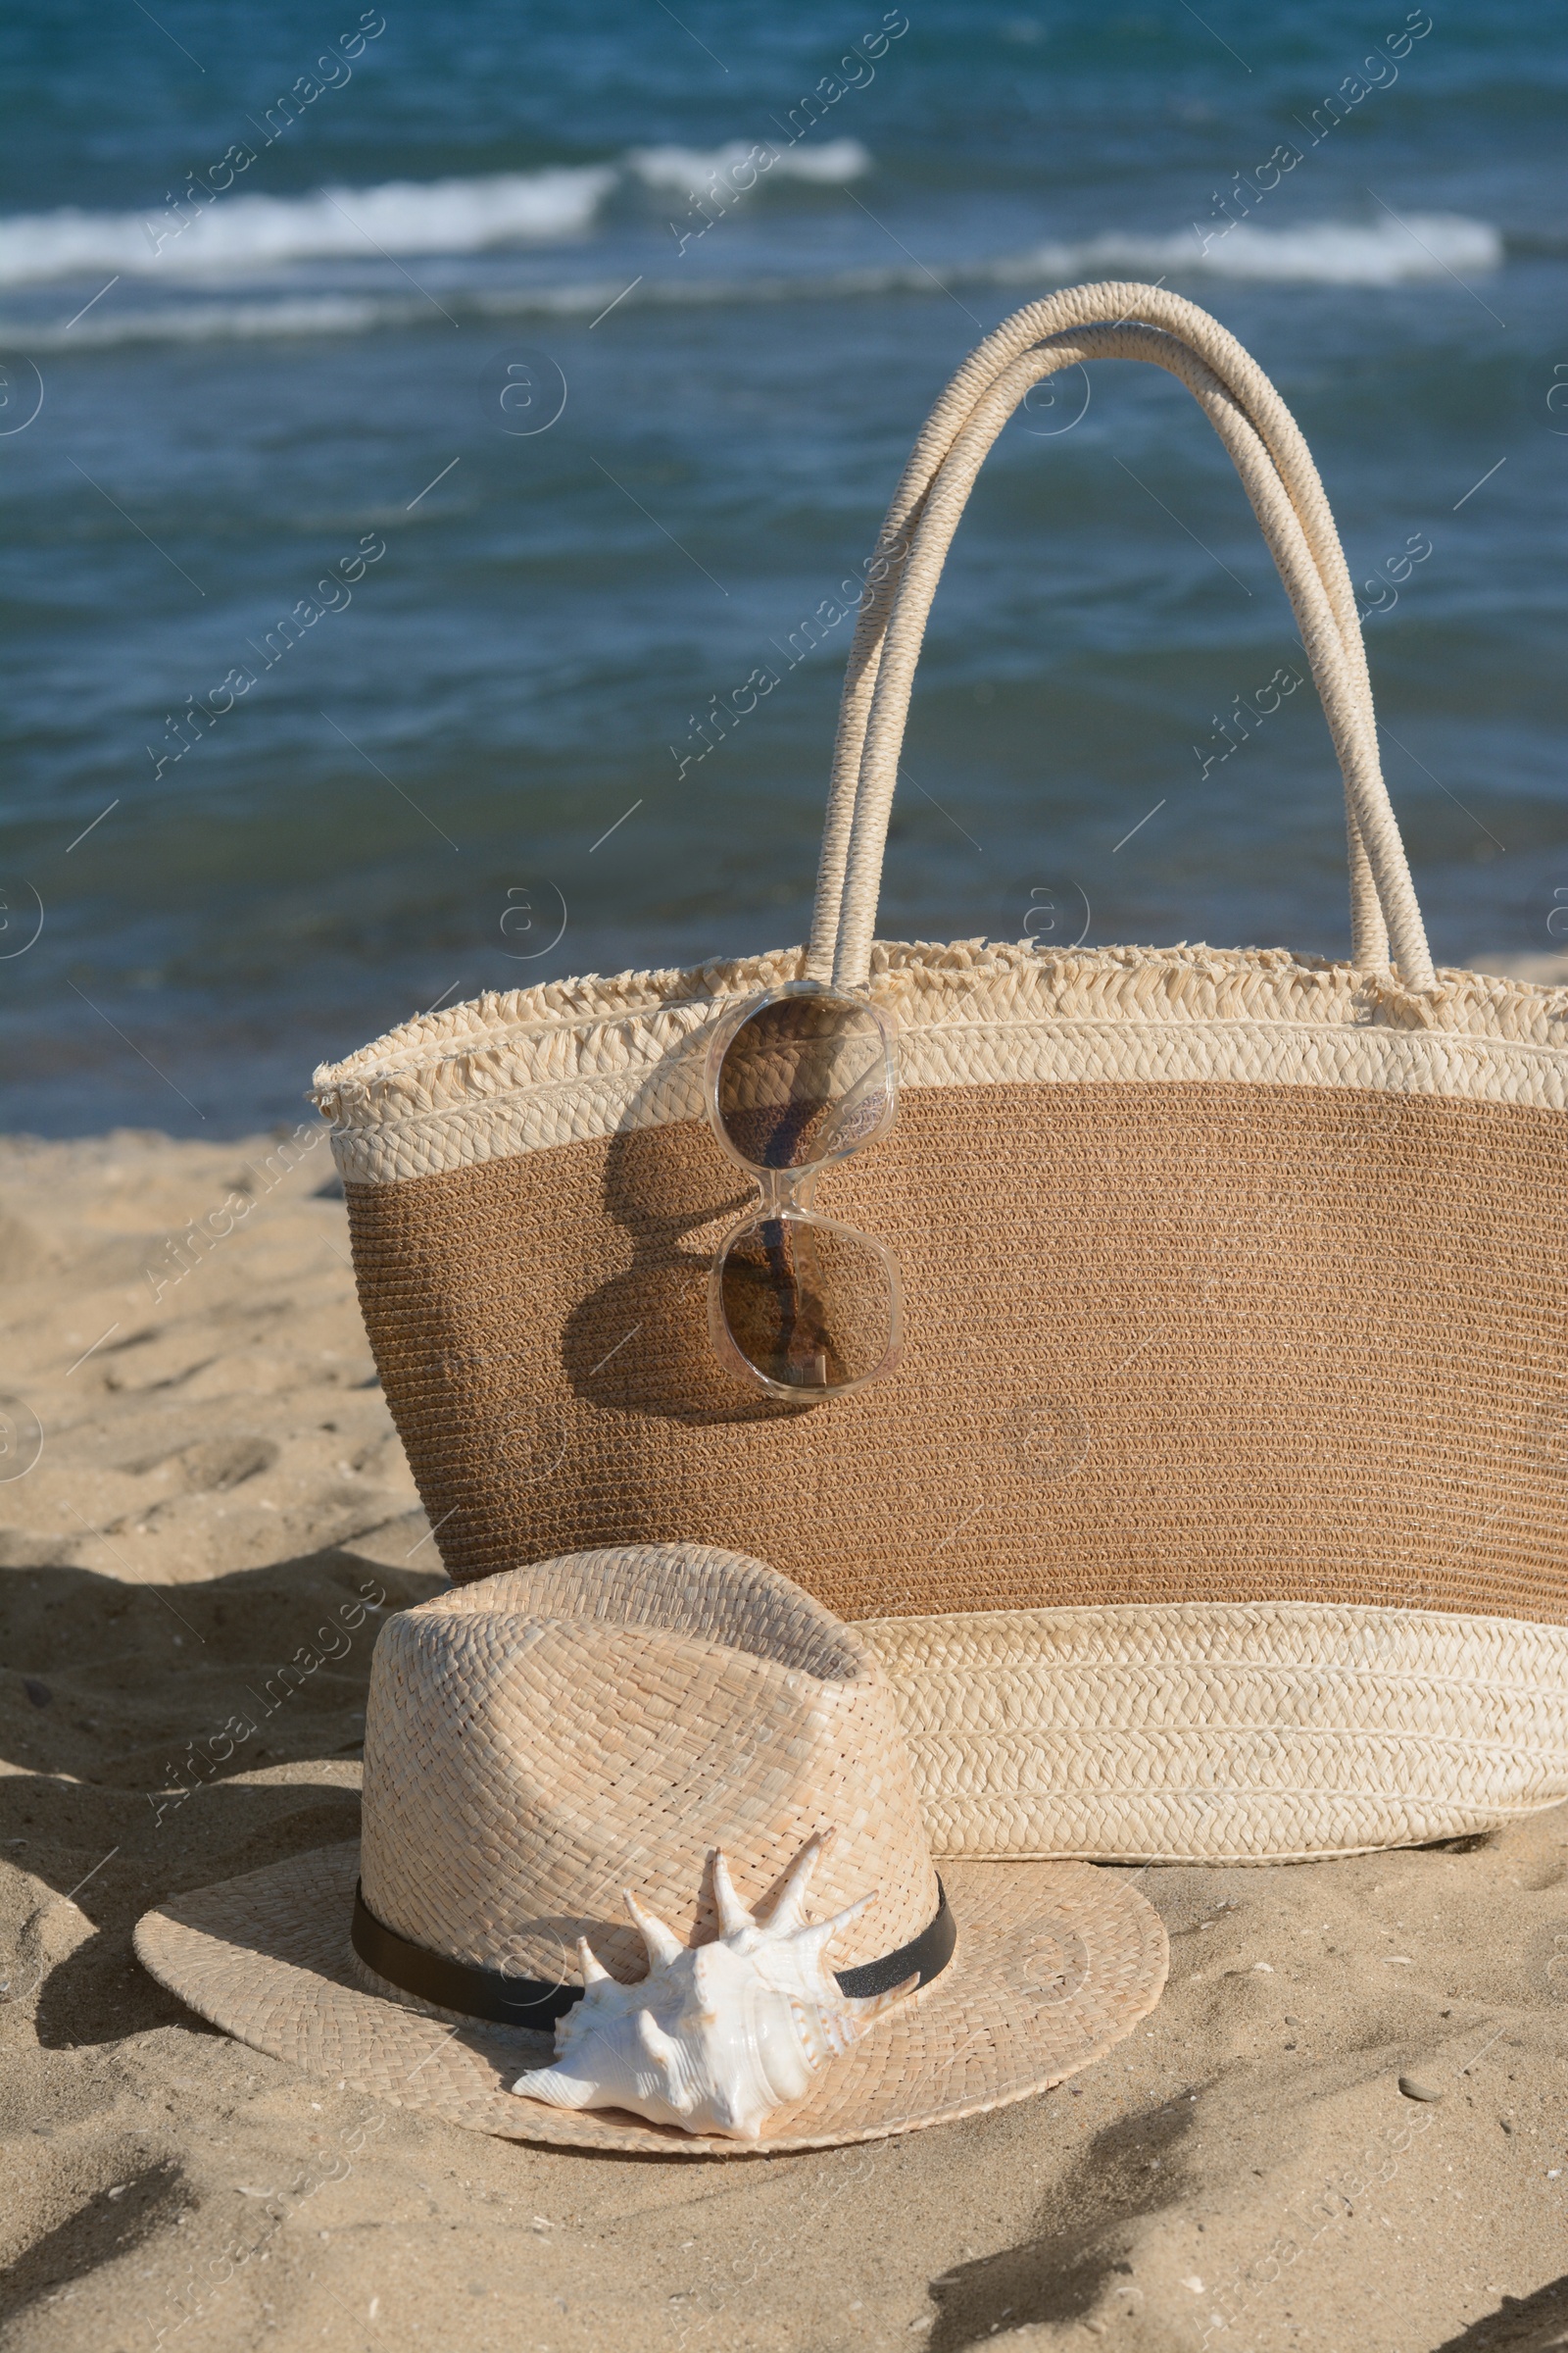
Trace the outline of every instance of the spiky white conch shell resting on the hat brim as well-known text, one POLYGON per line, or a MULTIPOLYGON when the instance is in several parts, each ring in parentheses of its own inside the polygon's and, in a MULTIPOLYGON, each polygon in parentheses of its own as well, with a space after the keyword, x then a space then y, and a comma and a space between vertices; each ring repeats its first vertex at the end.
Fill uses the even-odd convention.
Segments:
POLYGON ((630 2108, 651 2125, 759 2139, 773 2108, 802 2099, 818 2068, 914 1986, 910 1979, 872 2000, 839 1991, 827 1946, 872 1899, 806 1925, 806 1885, 825 1835, 806 1840, 764 1920, 741 1904, 715 1854, 712 1944, 682 1946, 625 1889, 649 1974, 623 1986, 578 1939, 583 2000, 557 2019, 555 2066, 520 2075, 512 2092, 552 2108, 630 2108))

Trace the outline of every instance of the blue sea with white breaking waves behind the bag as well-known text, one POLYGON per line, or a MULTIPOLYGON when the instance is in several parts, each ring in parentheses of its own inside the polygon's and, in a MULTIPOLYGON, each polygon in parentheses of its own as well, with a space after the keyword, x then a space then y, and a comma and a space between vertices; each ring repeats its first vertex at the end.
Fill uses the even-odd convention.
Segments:
MULTIPOLYGON (((5 1125, 235 1134, 421 1007, 799 941, 910 440, 1086 278, 1295 409, 1439 962, 1568 948, 1559 7, 19 0, 0 59, 5 1125)), ((884 934, 1342 955, 1281 668, 1187 395, 1058 379, 884 934)))

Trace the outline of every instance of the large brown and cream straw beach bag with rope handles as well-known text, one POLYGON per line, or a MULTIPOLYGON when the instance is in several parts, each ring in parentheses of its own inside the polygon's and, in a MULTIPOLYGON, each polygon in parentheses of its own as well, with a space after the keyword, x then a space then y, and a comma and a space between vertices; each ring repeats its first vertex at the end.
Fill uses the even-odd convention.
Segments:
POLYGON ((1298 1857, 1568 1793, 1568 995, 1432 969, 1345 558, 1279 395, 1138 285, 980 344, 863 600, 811 946, 559 981, 317 1073, 386 1395, 454 1579, 762 1553, 858 1621, 938 1854, 1298 1857), (1025 391, 1150 360, 1232 454, 1349 807, 1352 960, 872 939, 914 661, 1025 391), (823 1207, 898 1372, 811 1409, 708 1337, 722 1016, 870 988, 891 1134, 823 1207))

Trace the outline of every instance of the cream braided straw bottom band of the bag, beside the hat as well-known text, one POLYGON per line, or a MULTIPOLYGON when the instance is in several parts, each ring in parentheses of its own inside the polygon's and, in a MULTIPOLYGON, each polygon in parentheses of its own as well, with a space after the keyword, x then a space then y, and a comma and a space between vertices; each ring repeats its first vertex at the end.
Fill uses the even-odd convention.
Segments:
POLYGON ((898 1692, 938 1854, 1356 1854, 1568 1788, 1563 1626, 1175 1602, 858 1633, 898 1692))

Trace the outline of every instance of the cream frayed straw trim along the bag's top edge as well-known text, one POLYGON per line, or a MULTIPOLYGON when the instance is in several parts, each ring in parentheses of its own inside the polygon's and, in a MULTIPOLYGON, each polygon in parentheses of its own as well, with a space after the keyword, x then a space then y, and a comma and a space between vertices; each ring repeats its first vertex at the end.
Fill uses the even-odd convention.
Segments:
MULTIPOLYGON (((701 1118, 691 1047, 802 962, 788 948, 484 995, 324 1064, 313 1101, 355 1184, 701 1118)), ((1568 988, 1535 981, 1443 972, 1418 998, 1389 974, 1284 948, 884 941, 872 986, 898 1014, 914 1087, 1241 1078, 1568 1104, 1568 988)))

